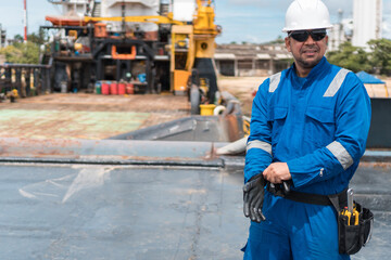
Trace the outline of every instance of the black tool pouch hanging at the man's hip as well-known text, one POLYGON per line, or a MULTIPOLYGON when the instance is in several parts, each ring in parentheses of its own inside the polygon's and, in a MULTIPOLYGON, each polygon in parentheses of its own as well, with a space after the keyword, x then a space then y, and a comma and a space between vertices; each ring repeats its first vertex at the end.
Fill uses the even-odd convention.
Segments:
POLYGON ((339 253, 356 253, 370 239, 374 213, 357 203, 355 205, 360 213, 357 225, 349 225, 346 216, 338 214, 339 253))

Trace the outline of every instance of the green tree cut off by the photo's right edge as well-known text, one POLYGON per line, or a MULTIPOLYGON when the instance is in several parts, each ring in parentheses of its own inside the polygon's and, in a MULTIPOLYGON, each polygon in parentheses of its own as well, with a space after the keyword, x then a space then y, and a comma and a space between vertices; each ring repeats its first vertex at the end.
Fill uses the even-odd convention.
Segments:
POLYGON ((370 65, 376 69, 376 73, 391 75, 391 40, 370 40, 368 44, 371 50, 370 65))

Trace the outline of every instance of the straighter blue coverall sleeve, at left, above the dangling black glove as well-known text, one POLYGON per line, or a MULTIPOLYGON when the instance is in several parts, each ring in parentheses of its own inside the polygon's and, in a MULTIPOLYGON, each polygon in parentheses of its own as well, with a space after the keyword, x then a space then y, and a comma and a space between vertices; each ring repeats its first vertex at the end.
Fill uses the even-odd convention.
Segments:
POLYGON ((252 105, 250 136, 247 143, 244 183, 272 164, 272 126, 267 122, 269 79, 258 88, 252 105))

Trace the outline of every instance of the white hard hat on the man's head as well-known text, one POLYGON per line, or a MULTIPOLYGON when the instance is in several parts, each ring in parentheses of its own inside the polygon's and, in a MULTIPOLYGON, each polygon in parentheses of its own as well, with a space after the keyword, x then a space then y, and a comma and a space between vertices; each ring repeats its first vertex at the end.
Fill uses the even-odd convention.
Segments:
POLYGON ((332 28, 327 6, 320 0, 294 0, 288 8, 283 32, 332 28))

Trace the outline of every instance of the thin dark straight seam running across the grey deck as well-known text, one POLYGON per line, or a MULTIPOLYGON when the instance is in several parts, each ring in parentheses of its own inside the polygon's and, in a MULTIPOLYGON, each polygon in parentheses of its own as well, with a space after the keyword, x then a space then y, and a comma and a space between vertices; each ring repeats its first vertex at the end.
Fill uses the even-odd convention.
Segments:
POLYGON ((137 165, 137 166, 185 166, 201 168, 224 168, 223 159, 214 160, 113 160, 113 159, 74 159, 74 158, 28 158, 0 157, 0 162, 30 164, 74 164, 74 165, 137 165))

